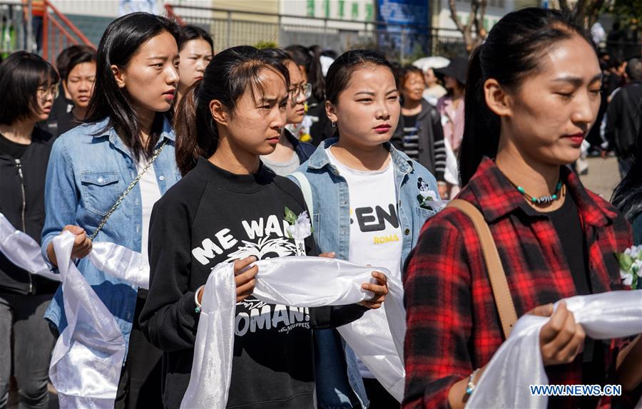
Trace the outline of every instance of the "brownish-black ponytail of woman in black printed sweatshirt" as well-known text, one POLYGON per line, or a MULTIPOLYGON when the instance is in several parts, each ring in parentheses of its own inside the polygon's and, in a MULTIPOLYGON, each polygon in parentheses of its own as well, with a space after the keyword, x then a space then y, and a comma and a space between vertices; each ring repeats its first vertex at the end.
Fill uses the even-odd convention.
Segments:
POLYGON ((202 81, 196 81, 185 90, 174 115, 176 165, 183 176, 196 166, 199 156, 210 157, 218 145, 218 130, 208 120, 211 115, 199 112, 203 110, 198 106, 198 90, 202 81))

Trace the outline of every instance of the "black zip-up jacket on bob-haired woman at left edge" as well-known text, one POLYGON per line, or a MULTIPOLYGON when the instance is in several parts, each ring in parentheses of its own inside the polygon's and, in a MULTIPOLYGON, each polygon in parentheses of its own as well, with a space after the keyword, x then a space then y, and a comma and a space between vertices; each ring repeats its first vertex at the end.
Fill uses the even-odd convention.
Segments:
MULTIPOLYGON (((44 225, 44 187, 54 137, 34 128, 31 145, 20 159, 0 152, 0 212, 16 229, 40 243, 44 225)), ((0 253, 0 291, 53 294, 58 283, 29 274, 0 253)))

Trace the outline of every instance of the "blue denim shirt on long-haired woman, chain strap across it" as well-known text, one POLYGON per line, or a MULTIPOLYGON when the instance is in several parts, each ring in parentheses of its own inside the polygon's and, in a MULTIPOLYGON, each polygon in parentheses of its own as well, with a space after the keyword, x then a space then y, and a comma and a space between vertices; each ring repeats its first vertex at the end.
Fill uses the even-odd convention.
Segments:
MULTIPOLYGON (((136 178, 136 159, 113 128, 105 128, 108 120, 83 124, 61 135, 54 143, 47 167, 45 184, 46 219, 42 231, 42 254, 67 224, 75 224, 93 234, 118 197, 136 178)), ((164 194, 180 179, 174 157, 174 133, 168 120, 158 144, 167 139, 161 155, 153 163, 156 180, 164 194)), ((113 242, 141 252, 143 232, 141 189, 138 184, 98 232, 95 242, 113 242)), ((126 343, 136 308, 136 286, 103 274, 88 257, 78 263, 87 282, 116 318, 126 343)), ((45 318, 58 326, 67 326, 62 289, 58 287, 45 318)))

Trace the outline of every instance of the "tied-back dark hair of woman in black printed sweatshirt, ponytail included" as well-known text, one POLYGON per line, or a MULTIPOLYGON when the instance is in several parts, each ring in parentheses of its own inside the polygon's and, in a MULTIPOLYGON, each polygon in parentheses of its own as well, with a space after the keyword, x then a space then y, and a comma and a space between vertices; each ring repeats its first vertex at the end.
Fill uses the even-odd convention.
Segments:
POLYGON ((271 69, 290 87, 287 68, 266 53, 250 46, 228 48, 216 54, 203 79, 185 91, 174 117, 176 165, 182 175, 193 169, 199 156, 210 157, 219 143, 218 128, 210 112, 210 101, 219 100, 233 113, 246 90, 263 90, 261 73, 271 69))

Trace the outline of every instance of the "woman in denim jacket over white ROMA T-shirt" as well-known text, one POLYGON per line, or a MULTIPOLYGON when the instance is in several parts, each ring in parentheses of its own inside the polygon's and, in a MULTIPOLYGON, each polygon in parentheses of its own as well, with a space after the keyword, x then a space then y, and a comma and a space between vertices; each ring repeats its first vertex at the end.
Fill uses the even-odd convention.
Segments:
MULTIPOLYGON (((290 176, 304 196, 311 193, 315 240, 322 252, 387 267, 401 279, 419 230, 441 202, 434 176, 389 143, 401 109, 397 78, 378 53, 348 51, 330 66, 326 96, 340 137, 325 140, 290 176)), ((320 408, 399 405, 335 330, 315 331, 315 339, 320 408)))

